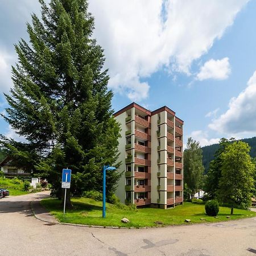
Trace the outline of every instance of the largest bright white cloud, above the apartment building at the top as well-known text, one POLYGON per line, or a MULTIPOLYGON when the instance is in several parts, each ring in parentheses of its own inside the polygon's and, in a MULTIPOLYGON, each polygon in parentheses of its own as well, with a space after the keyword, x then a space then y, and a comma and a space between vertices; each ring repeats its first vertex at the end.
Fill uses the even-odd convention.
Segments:
POLYGON ((149 88, 141 78, 160 68, 189 75, 192 61, 221 38, 247 2, 90 1, 96 21, 95 36, 105 49, 110 88, 139 101, 148 96, 149 88))

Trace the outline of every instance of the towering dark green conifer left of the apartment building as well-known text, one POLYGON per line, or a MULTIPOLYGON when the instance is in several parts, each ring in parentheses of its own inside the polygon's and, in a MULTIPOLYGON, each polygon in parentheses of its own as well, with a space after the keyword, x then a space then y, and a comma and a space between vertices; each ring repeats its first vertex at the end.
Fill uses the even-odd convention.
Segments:
MULTIPOLYGON (((73 193, 101 191, 102 166, 117 160, 119 125, 104 53, 92 38, 94 19, 86 0, 39 2, 42 20, 32 14, 30 42, 15 46, 14 86, 5 95, 4 118, 26 142, 1 135, 1 143, 13 164, 46 177, 57 191, 63 167, 72 169, 73 193)), ((108 172, 108 193, 118 178, 108 172)))

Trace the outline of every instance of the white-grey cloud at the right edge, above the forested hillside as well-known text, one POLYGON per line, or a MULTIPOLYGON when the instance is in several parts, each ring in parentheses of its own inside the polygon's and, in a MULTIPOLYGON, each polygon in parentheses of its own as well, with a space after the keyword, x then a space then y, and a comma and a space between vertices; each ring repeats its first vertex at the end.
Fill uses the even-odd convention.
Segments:
POLYGON ((209 124, 210 129, 239 135, 256 132, 256 71, 247 87, 229 102, 229 109, 209 124))

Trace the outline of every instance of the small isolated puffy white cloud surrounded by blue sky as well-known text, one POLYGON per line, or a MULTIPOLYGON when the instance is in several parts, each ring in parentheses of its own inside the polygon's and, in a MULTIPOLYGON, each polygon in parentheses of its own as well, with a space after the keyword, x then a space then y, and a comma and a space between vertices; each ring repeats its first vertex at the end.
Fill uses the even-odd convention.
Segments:
POLYGON ((200 72, 196 77, 199 81, 205 79, 225 80, 229 77, 230 73, 229 58, 225 57, 221 60, 210 59, 207 61, 203 67, 200 68, 200 72))

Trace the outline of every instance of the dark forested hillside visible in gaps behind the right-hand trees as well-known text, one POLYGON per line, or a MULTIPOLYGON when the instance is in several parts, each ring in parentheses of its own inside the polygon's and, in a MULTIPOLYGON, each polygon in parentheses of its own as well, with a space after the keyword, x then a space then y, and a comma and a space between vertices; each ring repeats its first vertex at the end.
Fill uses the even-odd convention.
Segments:
MULTIPOLYGON (((249 144, 249 146, 251 147, 250 156, 252 158, 255 158, 256 157, 256 137, 249 138, 249 139, 241 139, 241 141, 249 144)), ((210 146, 202 147, 203 164, 204 164, 204 168, 205 168, 205 173, 208 172, 210 161, 213 160, 214 154, 215 154, 216 150, 218 149, 218 147, 219 147, 219 144, 212 144, 210 146)))

